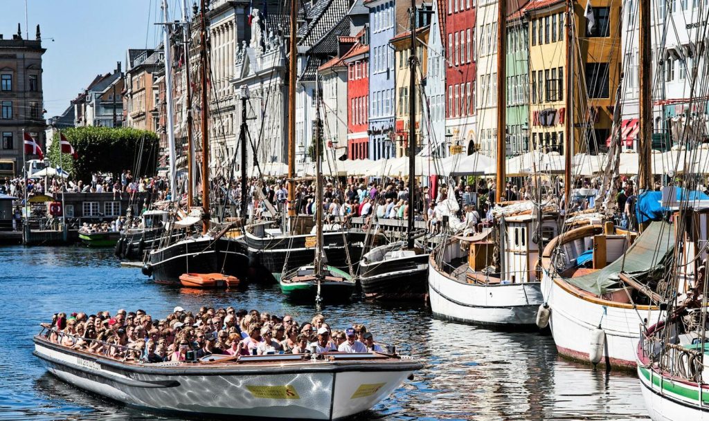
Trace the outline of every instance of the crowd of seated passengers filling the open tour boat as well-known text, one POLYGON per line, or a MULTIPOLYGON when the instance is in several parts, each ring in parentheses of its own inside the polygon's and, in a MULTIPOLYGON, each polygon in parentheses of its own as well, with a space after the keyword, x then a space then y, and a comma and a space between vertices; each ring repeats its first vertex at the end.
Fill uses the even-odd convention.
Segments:
POLYGON ((43 327, 50 328, 50 341, 65 347, 141 362, 180 362, 212 354, 385 352, 364 325, 331 330, 322 314, 301 325, 287 314, 233 307, 201 307, 192 313, 177 306, 160 320, 143 310, 120 309, 115 316, 108 311, 57 313, 43 327))

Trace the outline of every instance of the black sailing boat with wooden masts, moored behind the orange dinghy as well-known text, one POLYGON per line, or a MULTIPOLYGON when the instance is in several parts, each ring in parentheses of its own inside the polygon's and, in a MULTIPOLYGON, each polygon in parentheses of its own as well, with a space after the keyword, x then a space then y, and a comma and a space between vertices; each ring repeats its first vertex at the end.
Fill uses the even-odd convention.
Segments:
MULTIPOLYGON (((167 1, 163 1, 165 21, 169 22, 167 17, 167 1)), ((183 15, 186 16, 186 4, 183 4, 183 15)), ((206 18, 205 11, 202 8, 200 15, 200 64, 201 64, 201 141, 202 141, 202 167, 201 167, 201 182, 202 182, 202 208, 189 209, 189 214, 180 221, 173 221, 170 230, 173 228, 191 229, 191 226, 202 223, 201 234, 187 236, 180 241, 172 244, 167 244, 157 250, 152 250, 147 256, 147 262, 143 265, 143 274, 152 276, 155 282, 164 284, 179 284, 179 277, 184 273, 223 273, 244 279, 248 274, 249 258, 242 250, 239 250, 235 245, 236 242, 221 242, 218 241, 231 228, 226 226, 220 231, 210 231, 209 218, 209 142, 208 142, 208 86, 207 86, 207 42, 206 42, 206 18)), ((169 61, 169 34, 167 31, 168 25, 165 25, 165 62, 166 76, 169 71, 172 71, 169 61)), ((189 59, 186 60, 189 62, 189 59)), ((188 85, 189 86, 189 85, 188 85)), ((167 89, 167 95, 170 95, 171 89, 167 89)), ((171 103, 168 98, 167 103, 171 103)), ((172 113, 167 113, 168 120, 172 119, 172 113)), ((189 120, 188 120, 189 121, 189 120)), ((169 124, 172 127, 171 124, 169 124)), ((174 145, 174 133, 169 130, 168 137, 171 144, 174 145)), ((189 139, 189 150, 191 151, 191 137, 189 139)), ((170 168, 172 180, 174 180, 174 159, 170 160, 170 168)), ((188 180, 188 185, 191 186, 191 180, 188 180)), ((172 190, 173 192, 175 190, 172 190)), ((188 193, 188 208, 191 204, 191 192, 188 193)), ((167 232, 169 233, 170 230, 167 232)))

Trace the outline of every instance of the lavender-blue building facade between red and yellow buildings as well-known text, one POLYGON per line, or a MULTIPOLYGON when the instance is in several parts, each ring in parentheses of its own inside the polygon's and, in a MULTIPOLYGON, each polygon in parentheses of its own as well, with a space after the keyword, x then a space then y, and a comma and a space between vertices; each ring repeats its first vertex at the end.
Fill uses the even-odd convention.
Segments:
POLYGON ((370 0, 369 8, 369 159, 394 158, 395 0, 370 0))

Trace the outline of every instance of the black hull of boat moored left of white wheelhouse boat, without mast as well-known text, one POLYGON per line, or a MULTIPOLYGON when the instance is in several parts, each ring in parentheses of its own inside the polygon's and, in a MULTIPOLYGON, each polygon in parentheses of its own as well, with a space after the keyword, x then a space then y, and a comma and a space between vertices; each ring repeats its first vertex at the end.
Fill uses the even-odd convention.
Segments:
POLYGON ((372 248, 359 262, 364 296, 382 301, 423 301, 428 293, 428 253, 396 241, 372 248))

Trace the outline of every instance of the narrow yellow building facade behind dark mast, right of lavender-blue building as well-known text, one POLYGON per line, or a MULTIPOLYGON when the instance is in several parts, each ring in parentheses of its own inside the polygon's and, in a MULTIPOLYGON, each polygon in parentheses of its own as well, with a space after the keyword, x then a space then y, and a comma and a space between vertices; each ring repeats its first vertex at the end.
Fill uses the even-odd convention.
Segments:
MULTIPOLYGON (((421 98, 421 80, 426 76, 426 64, 428 63, 428 33, 429 26, 419 28, 416 31, 416 38, 421 42, 418 42, 416 46, 416 55, 418 57, 418 69, 420 69, 420 74, 416 75, 416 109, 415 109, 415 121, 416 121, 416 140, 417 140, 417 150, 420 150, 421 146, 425 144, 425 139, 423 139, 423 98, 421 98)), ((394 74, 396 75, 395 86, 394 86, 394 115, 395 115, 395 127, 396 127, 396 156, 407 156, 408 149, 408 132, 409 132, 409 96, 412 94, 409 90, 409 75, 411 71, 408 67, 408 58, 411 56, 411 32, 406 31, 406 33, 401 33, 396 35, 395 38, 391 40, 391 47, 394 49, 394 74)))

